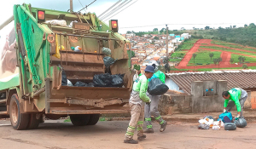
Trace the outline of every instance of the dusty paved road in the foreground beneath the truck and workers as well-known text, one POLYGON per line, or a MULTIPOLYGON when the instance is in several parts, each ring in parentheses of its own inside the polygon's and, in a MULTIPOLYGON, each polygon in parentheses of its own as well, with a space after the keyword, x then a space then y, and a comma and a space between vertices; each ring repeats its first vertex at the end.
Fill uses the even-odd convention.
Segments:
MULTIPOLYGON (((235 131, 201 130, 193 123, 170 123, 164 133, 155 129, 137 145, 123 143, 128 121, 99 122, 95 126, 73 127, 63 121, 46 121, 39 129, 16 131, 9 120, 0 120, 0 148, 26 149, 167 149, 167 148, 255 148, 256 123, 235 131), (58 122, 58 123, 57 123, 58 122)), ((154 127, 158 128, 157 123, 154 127), (157 126, 157 127, 156 127, 157 126)), ((137 137, 136 137, 137 139, 137 137)))

